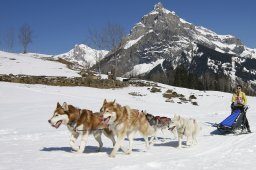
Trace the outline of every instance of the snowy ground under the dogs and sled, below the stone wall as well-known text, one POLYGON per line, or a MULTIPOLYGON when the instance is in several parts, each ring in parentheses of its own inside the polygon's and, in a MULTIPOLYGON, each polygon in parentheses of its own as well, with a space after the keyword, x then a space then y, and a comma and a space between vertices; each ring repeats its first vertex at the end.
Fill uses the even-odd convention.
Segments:
MULTIPOLYGON (((199 106, 190 103, 166 103, 162 93, 150 93, 146 87, 123 89, 95 89, 87 87, 53 87, 0 82, 0 169, 8 170, 208 170, 208 169, 255 169, 256 133, 246 135, 210 135, 220 122, 229 115, 231 94, 201 92, 162 85, 162 91, 175 89, 189 96, 195 94, 199 106), (140 92, 146 96, 128 95, 140 92), (91 136, 83 154, 70 152, 66 127, 52 128, 47 120, 57 101, 68 102, 80 108, 98 111, 103 99, 116 99, 122 105, 146 110, 155 115, 172 117, 178 113, 194 117, 202 124, 198 145, 177 149, 177 141, 168 131, 158 133, 165 141, 158 141, 145 152, 139 134, 135 137, 131 155, 118 152, 109 158, 112 149, 109 139, 103 137, 104 148, 100 153, 91 136)), ((256 129, 256 98, 249 97, 248 118, 252 131, 256 129)), ((125 146, 128 147, 128 142, 125 146)))

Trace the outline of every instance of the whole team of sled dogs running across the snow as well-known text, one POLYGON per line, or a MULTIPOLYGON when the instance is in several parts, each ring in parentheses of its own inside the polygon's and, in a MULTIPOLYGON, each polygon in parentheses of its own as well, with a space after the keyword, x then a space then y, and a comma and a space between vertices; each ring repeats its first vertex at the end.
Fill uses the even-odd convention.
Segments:
POLYGON ((79 109, 66 102, 61 106, 57 103, 53 116, 48 122, 55 128, 61 124, 66 125, 71 133, 70 146, 76 152, 83 153, 88 136, 93 134, 99 143, 101 151, 103 143, 102 133, 113 143, 113 150, 110 157, 115 157, 119 148, 125 154, 130 154, 133 148, 133 136, 139 132, 145 141, 146 150, 156 139, 157 130, 168 129, 178 135, 178 147, 181 147, 182 138, 187 138, 186 145, 193 145, 197 142, 196 136, 200 127, 195 119, 187 119, 175 115, 174 118, 153 116, 145 111, 132 109, 129 106, 121 106, 115 100, 103 102, 100 112, 92 112, 87 109, 79 109), (80 136, 80 146, 76 146, 76 140, 80 136), (125 138, 129 140, 128 150, 123 147, 125 138), (149 137, 150 140, 149 140, 149 137))

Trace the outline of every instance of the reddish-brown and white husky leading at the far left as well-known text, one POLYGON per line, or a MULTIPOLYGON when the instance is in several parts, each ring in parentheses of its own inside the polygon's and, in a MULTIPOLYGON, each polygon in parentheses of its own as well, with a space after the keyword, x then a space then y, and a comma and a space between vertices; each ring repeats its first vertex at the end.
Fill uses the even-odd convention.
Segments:
POLYGON ((48 122, 56 129, 59 128, 61 124, 66 125, 71 132, 70 146, 73 150, 80 153, 84 151, 86 140, 91 133, 99 143, 98 151, 100 151, 103 146, 101 140, 102 133, 112 140, 113 145, 115 144, 112 131, 102 125, 102 117, 100 117, 99 114, 94 114, 92 111, 86 109, 78 109, 72 105, 68 105, 66 102, 64 102, 62 106, 59 102, 57 103, 53 116, 48 122), (79 135, 81 135, 81 143, 80 147, 77 147, 75 142, 79 135))

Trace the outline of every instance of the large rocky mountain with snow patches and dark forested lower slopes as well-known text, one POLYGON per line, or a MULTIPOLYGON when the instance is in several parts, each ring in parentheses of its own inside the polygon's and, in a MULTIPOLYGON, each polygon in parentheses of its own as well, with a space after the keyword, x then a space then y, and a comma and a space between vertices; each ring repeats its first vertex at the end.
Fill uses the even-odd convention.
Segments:
POLYGON ((256 90, 256 49, 195 26, 161 3, 102 60, 102 70, 115 66, 116 58, 117 74, 123 76, 203 90, 231 91, 236 83, 250 94, 256 90))

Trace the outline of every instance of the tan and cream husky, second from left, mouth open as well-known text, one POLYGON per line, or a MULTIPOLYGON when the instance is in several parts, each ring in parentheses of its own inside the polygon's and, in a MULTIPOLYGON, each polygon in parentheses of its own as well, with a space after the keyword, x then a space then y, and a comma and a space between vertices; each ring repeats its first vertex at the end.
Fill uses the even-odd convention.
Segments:
POLYGON ((154 128, 150 126, 143 112, 131 109, 129 106, 121 106, 115 100, 107 102, 106 99, 100 111, 103 113, 105 124, 109 125, 117 136, 117 141, 109 155, 110 157, 115 157, 120 147, 126 154, 130 154, 132 152, 133 135, 137 131, 144 137, 146 149, 149 148, 148 136, 154 133, 154 128), (129 140, 128 151, 125 151, 122 147, 125 136, 129 140))

